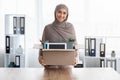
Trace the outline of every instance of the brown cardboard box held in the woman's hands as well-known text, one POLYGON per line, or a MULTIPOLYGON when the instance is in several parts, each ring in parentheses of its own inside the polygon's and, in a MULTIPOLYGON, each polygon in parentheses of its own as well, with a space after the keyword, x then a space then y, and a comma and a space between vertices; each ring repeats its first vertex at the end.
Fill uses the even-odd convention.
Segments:
POLYGON ((43 49, 43 59, 46 65, 74 65, 74 49, 43 49))

